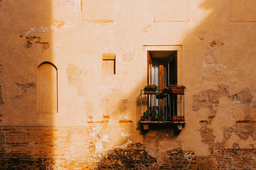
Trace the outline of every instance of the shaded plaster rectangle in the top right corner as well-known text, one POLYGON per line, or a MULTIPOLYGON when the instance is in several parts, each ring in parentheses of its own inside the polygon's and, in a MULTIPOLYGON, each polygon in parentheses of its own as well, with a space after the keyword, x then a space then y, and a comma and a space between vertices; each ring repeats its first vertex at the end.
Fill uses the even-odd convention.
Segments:
POLYGON ((231 0, 231 22, 256 21, 255 0, 231 0))

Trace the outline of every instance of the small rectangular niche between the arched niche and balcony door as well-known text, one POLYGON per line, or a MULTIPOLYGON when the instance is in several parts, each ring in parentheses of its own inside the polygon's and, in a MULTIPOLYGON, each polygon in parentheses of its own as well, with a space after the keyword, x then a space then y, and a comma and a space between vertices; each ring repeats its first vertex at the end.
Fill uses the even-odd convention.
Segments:
POLYGON ((115 74, 115 54, 102 54, 102 74, 115 74))

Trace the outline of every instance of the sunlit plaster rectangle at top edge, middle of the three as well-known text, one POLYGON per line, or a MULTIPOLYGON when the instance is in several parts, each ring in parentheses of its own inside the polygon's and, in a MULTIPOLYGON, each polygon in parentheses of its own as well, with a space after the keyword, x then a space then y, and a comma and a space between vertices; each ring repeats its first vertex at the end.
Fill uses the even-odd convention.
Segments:
POLYGON ((155 21, 188 21, 188 0, 155 0, 155 21))

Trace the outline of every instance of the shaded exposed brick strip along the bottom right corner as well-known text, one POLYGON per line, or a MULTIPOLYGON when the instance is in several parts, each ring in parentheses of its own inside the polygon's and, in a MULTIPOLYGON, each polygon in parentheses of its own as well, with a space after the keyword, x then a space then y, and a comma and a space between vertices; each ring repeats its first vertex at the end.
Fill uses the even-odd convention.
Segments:
POLYGON ((256 149, 216 149, 209 156, 174 149, 162 153, 159 169, 172 170, 255 170, 256 149))

